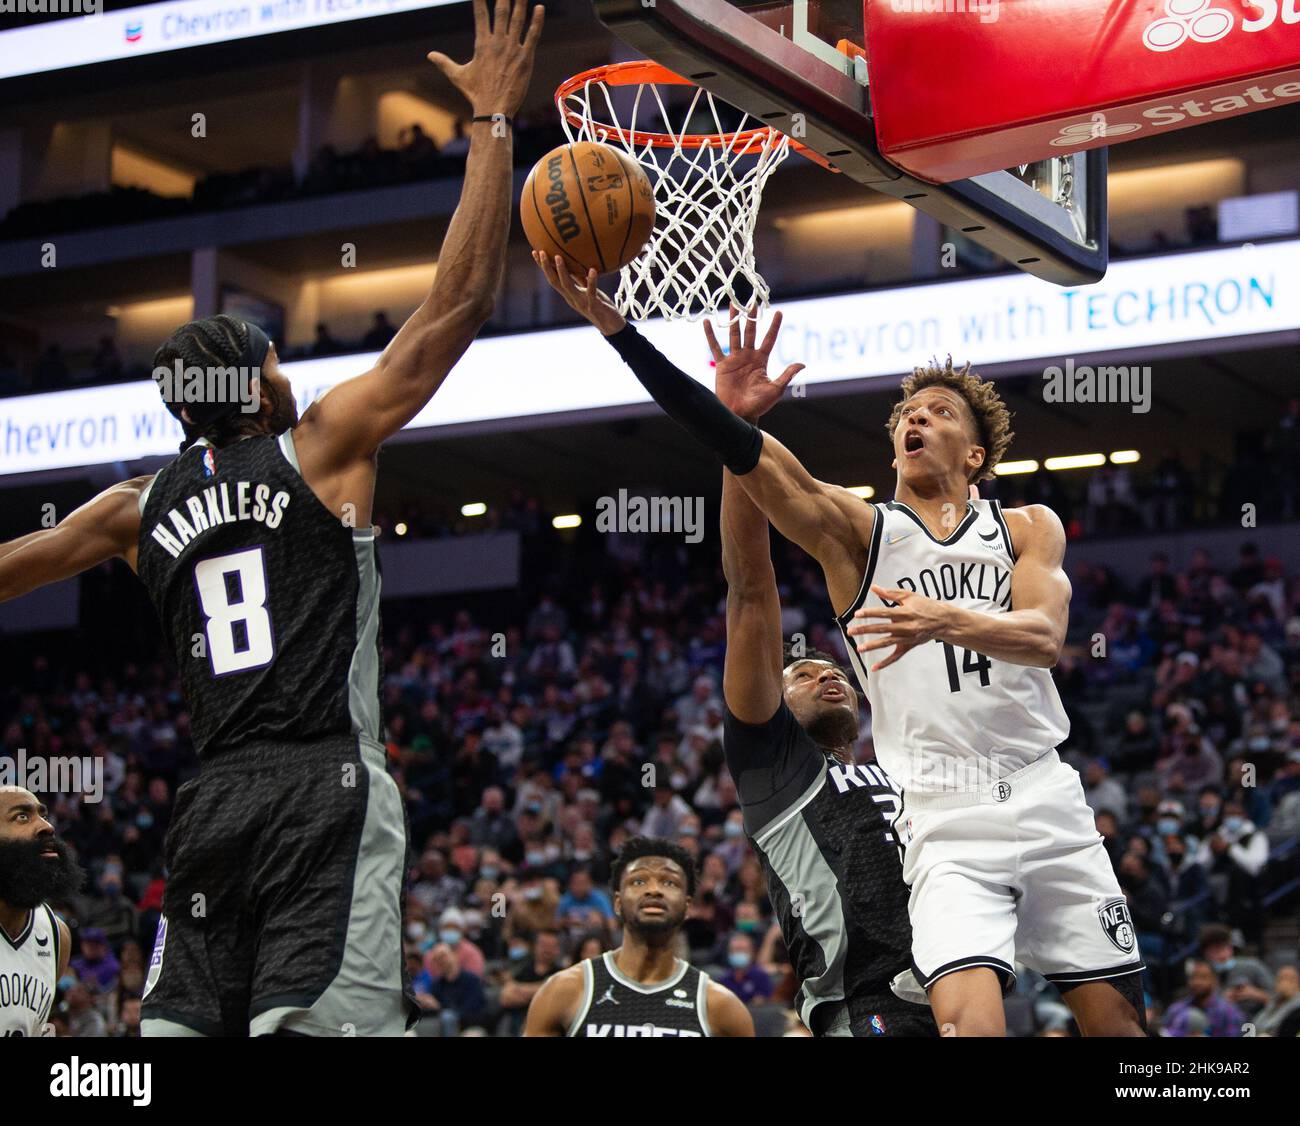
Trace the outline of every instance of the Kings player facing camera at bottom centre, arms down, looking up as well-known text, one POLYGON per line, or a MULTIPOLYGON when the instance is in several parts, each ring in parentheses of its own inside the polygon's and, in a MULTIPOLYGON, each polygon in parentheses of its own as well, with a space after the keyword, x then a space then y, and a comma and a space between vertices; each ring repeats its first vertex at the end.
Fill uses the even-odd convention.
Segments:
POLYGON ((614 862, 623 945, 546 979, 525 1036, 753 1036, 731 989, 673 954, 696 893, 696 861, 672 841, 632 837, 614 862))

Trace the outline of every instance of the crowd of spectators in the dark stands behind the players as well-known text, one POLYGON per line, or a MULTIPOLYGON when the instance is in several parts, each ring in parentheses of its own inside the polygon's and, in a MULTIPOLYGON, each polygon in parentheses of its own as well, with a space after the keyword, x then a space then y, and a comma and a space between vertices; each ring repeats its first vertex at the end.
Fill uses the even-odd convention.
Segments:
MULTIPOLYGON (((382 697, 411 827, 404 928, 421 1035, 517 1034, 541 982, 616 944, 611 856, 636 833, 698 858, 680 953, 780 1035, 797 1023, 797 983, 719 742, 716 540, 575 542, 537 512, 519 495, 497 521, 524 536, 521 589, 386 611, 382 697)), ((428 517, 455 533, 441 521, 428 517)), ((820 573, 777 545, 786 635, 842 651, 820 573)), ((1152 1026, 1295 1035, 1300 576, 1244 545, 1236 559, 1197 553, 1182 571, 1152 559, 1131 588, 1092 564, 1072 579, 1054 672, 1072 728, 1062 754, 1128 897, 1152 1026)), ((103 762, 101 802, 53 798, 88 874, 58 905, 77 945, 58 1023, 133 1035, 172 796, 198 763, 156 638, 95 659, 65 646, 14 666, 0 753, 103 762)), ((872 755, 868 720, 859 755, 872 755)), ((1054 988, 1028 971, 1008 1014, 1019 1035, 1071 1030, 1054 988)))

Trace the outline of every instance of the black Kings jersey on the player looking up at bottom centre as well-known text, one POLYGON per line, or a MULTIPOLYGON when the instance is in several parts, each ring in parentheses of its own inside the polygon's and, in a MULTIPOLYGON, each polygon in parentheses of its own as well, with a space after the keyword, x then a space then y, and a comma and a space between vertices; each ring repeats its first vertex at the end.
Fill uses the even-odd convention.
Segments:
POLYGON ((677 960, 666 982, 642 986, 621 973, 614 950, 582 962, 582 1001, 569 1036, 711 1036, 708 978, 677 960))

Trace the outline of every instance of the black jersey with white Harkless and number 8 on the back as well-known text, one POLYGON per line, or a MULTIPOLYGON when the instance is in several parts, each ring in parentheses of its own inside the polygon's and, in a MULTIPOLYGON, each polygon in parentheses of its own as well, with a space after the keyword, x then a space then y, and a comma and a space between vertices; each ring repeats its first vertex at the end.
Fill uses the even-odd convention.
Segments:
POLYGON ((254 740, 380 739, 374 533, 333 515, 292 430, 200 439, 140 498, 139 576, 200 754, 254 740))

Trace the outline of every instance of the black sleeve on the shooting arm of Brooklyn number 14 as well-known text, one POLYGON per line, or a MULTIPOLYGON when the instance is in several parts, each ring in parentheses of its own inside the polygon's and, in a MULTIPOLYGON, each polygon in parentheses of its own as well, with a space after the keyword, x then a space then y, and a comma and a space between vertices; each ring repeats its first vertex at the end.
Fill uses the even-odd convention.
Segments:
POLYGON ((718 395, 670 363, 630 322, 606 339, 663 412, 722 458, 728 469, 742 476, 758 464, 763 452, 763 432, 758 426, 729 411, 718 395))

